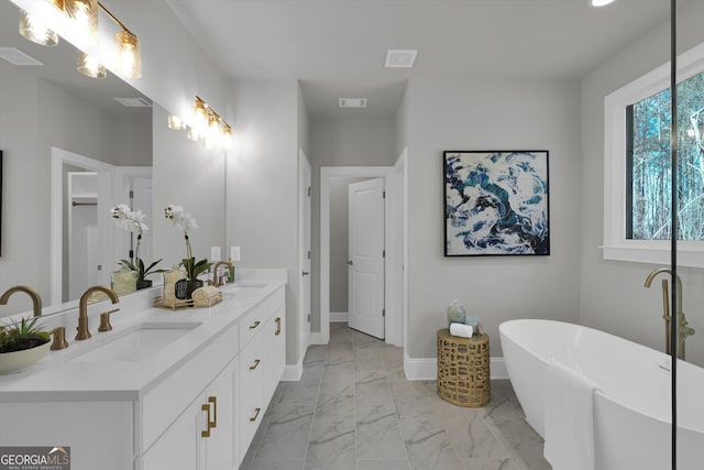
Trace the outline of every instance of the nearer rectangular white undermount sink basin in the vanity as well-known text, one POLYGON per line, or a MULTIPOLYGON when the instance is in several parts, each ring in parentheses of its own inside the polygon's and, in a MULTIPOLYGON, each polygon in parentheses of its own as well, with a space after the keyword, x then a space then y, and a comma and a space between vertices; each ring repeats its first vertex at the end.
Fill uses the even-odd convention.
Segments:
POLYGON ((199 325, 199 323, 139 325, 136 328, 129 329, 109 342, 91 349, 73 360, 84 362, 140 362, 182 338, 199 325))

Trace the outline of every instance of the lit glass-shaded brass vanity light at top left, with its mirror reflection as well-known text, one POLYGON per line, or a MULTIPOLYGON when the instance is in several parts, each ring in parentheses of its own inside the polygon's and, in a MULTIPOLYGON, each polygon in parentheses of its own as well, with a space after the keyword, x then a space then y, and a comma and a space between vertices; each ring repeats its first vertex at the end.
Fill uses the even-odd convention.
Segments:
MULTIPOLYGON (((48 0, 40 3, 32 13, 20 11, 20 34, 37 44, 51 46, 58 43, 58 29, 78 47, 95 46, 98 44, 99 10, 120 28, 114 34, 116 72, 122 77, 140 78, 142 53, 139 37, 98 0, 48 0), (48 24, 53 12, 47 9, 51 8, 63 13, 62 24, 48 24)), ((106 68, 84 52, 78 53, 78 70, 92 78, 103 78, 107 75, 106 68)))

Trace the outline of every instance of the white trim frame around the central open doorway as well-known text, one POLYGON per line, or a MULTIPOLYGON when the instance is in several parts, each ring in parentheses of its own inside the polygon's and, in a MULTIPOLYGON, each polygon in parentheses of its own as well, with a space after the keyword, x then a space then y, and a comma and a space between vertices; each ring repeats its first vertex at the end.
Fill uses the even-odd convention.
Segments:
POLYGON ((386 342, 394 346, 403 346, 403 317, 404 307, 397 305, 397 298, 403 298, 398 288, 403 288, 403 270, 397 267, 397 263, 391 260, 403 258, 402 245, 391 237, 394 233, 403 232, 403 215, 393 210, 389 200, 403 199, 403 194, 395 194, 399 189, 398 184, 389 184, 398 176, 398 171, 394 166, 321 166, 320 167, 320 334, 316 338, 316 343, 327 345, 330 341, 330 181, 336 177, 382 177, 386 187, 386 210, 385 214, 385 244, 386 244, 386 270, 385 270, 385 293, 386 317, 385 330, 386 342), (396 228, 392 230, 391 228, 396 228))

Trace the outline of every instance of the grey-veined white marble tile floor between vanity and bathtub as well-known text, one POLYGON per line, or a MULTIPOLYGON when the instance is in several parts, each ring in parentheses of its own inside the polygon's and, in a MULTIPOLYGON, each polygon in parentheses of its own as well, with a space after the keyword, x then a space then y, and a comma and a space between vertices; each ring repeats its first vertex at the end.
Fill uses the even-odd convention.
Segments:
POLYGON ((508 380, 465 408, 408 381, 403 349, 330 325, 300 382, 282 382, 240 470, 550 470, 508 380))

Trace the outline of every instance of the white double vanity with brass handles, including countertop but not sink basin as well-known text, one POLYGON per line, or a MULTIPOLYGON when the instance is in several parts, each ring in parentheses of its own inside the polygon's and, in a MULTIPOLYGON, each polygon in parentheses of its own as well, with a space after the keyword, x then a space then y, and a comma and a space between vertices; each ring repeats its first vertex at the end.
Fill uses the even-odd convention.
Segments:
POLYGON ((64 362, 0 376, 0 445, 69 446, 73 470, 238 469, 285 367, 285 281, 134 315, 200 326, 144 362, 74 361, 72 343, 64 362))

